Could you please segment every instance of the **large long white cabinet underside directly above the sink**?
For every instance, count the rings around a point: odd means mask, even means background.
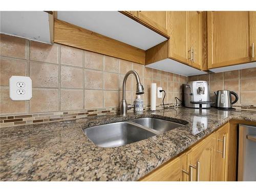
[[[143,50],[167,40],[118,11],[58,11],[57,17]]]

